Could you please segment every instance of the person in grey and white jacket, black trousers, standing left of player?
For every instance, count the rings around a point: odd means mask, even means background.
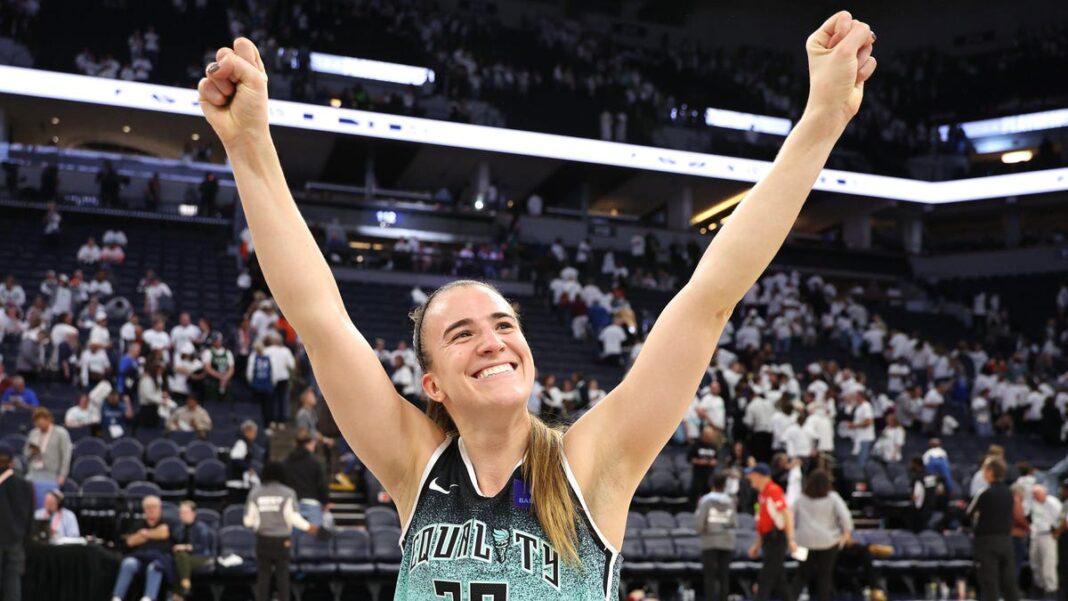
[[[279,599],[289,599],[289,533],[318,533],[297,511],[297,494],[284,479],[284,465],[267,463],[263,485],[252,489],[245,508],[245,527],[256,533],[256,601],[269,601],[272,574]]]

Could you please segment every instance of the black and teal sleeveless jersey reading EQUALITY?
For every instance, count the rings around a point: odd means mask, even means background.
[[[581,569],[567,565],[531,509],[516,465],[496,496],[478,489],[459,438],[446,438],[423,471],[394,601],[616,601],[623,557],[601,535],[565,458],[579,512]]]

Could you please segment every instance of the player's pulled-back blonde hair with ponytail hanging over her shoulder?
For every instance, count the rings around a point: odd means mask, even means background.
[[[500,290],[490,284],[474,280],[457,280],[441,286],[427,297],[422,306],[415,307],[410,314],[414,323],[412,347],[424,373],[429,371],[430,368],[430,358],[423,348],[423,317],[426,310],[440,292],[467,286],[483,286],[504,298]],[[459,434],[459,429],[452,416],[449,415],[449,410],[445,409],[444,405],[430,400],[426,406],[426,414],[445,434]],[[541,524],[541,529],[545,531],[549,542],[552,543],[564,562],[572,567],[581,567],[578,550],[579,535],[576,526],[578,510],[563,470],[564,429],[549,427],[533,414],[530,420],[531,431],[527,444],[527,458],[523,461],[523,479],[531,490],[531,506],[534,517]]]

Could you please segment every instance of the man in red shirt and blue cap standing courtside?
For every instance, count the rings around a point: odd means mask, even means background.
[[[767,463],[757,463],[745,470],[745,477],[759,496],[757,499],[756,534],[759,537],[749,548],[749,556],[756,559],[764,550],[764,563],[756,579],[755,601],[767,601],[772,594],[781,601],[792,601],[786,580],[786,556],[797,551],[794,542],[794,515],[786,506],[783,489],[771,480]]]

